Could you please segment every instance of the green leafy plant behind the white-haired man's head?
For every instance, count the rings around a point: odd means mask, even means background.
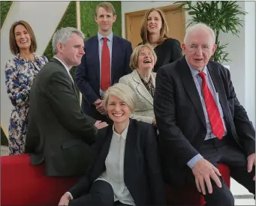
[[[188,11],[191,16],[188,26],[202,22],[215,32],[215,43],[218,46],[211,60],[219,63],[230,61],[227,58],[228,52],[225,51],[227,43],[221,43],[219,34],[221,31],[231,32],[239,37],[239,26],[243,23],[239,15],[245,15],[246,12],[236,4],[236,1],[176,1],[174,4],[180,4],[182,9]]]

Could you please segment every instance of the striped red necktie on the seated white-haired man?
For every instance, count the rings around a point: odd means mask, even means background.
[[[216,106],[212,93],[206,84],[206,74],[204,72],[200,72],[198,75],[203,79],[203,98],[206,103],[206,110],[209,117],[209,123],[212,127],[212,133],[217,136],[218,139],[222,139],[224,126],[221,120],[221,115],[218,112],[218,107]]]

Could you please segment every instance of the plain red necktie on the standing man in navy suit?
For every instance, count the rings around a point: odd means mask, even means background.
[[[101,53],[101,90],[110,87],[110,49],[107,46],[107,37],[103,38]]]

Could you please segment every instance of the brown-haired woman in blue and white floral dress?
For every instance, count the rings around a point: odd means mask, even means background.
[[[16,55],[5,67],[5,84],[14,108],[11,110],[9,153],[23,154],[29,117],[29,92],[36,74],[48,62],[36,55],[35,34],[25,21],[14,22],[10,29],[10,49]]]

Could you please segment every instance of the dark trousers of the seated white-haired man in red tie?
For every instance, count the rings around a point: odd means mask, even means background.
[[[230,176],[239,184],[242,184],[250,193],[255,195],[255,182],[253,181],[255,166],[252,172],[247,172],[247,155],[239,148],[235,139],[225,136],[221,140],[217,138],[206,140],[200,148],[200,154],[216,167],[218,163],[224,163],[229,166]],[[222,187],[217,187],[215,182],[212,181],[212,194],[206,193],[204,196],[206,205],[234,205],[232,193],[222,178],[219,177],[219,179]],[[192,172],[188,175],[188,182],[195,186]],[[208,192],[207,187],[206,191]]]

